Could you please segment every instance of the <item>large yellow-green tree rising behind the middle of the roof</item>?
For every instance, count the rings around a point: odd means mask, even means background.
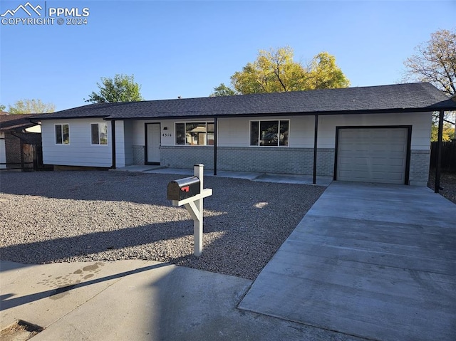
[[[277,93],[284,91],[346,88],[350,82],[336,65],[336,58],[327,52],[318,53],[309,65],[294,61],[294,51],[284,48],[260,50],[253,63],[231,77],[232,88],[224,84],[212,95]],[[220,91],[217,91],[220,90]],[[222,90],[222,91],[221,91]]]

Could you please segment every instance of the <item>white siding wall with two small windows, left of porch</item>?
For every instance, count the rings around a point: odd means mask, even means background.
[[[108,123],[108,145],[91,145],[90,123]],[[123,122],[118,122],[123,127]],[[69,125],[69,145],[57,145],[55,125]],[[117,126],[116,126],[117,127]],[[43,163],[61,166],[111,167],[111,127],[110,122],[100,118],[84,118],[76,120],[43,120],[41,122],[43,140]],[[120,130],[120,129],[119,129]],[[116,131],[116,140],[122,141],[123,133]],[[121,162],[125,156],[118,153]]]

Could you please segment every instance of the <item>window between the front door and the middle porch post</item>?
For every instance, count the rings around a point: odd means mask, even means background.
[[[214,145],[214,122],[176,123],[175,129],[176,145]]]

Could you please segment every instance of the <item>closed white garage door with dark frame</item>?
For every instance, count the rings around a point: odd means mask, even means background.
[[[408,128],[341,128],[337,179],[404,184]]]

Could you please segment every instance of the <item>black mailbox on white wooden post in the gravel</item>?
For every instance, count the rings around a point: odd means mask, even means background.
[[[203,188],[204,164],[195,164],[193,167],[194,177],[176,180],[168,184],[168,199],[172,200],[172,206],[184,205],[193,219],[193,235],[195,236],[195,249],[193,254],[197,257],[202,253],[202,201],[212,195],[212,189]],[[197,178],[197,179],[196,179]],[[199,188],[196,188],[199,185]],[[187,194],[197,193],[186,197]],[[185,198],[185,199],[184,199]]]

